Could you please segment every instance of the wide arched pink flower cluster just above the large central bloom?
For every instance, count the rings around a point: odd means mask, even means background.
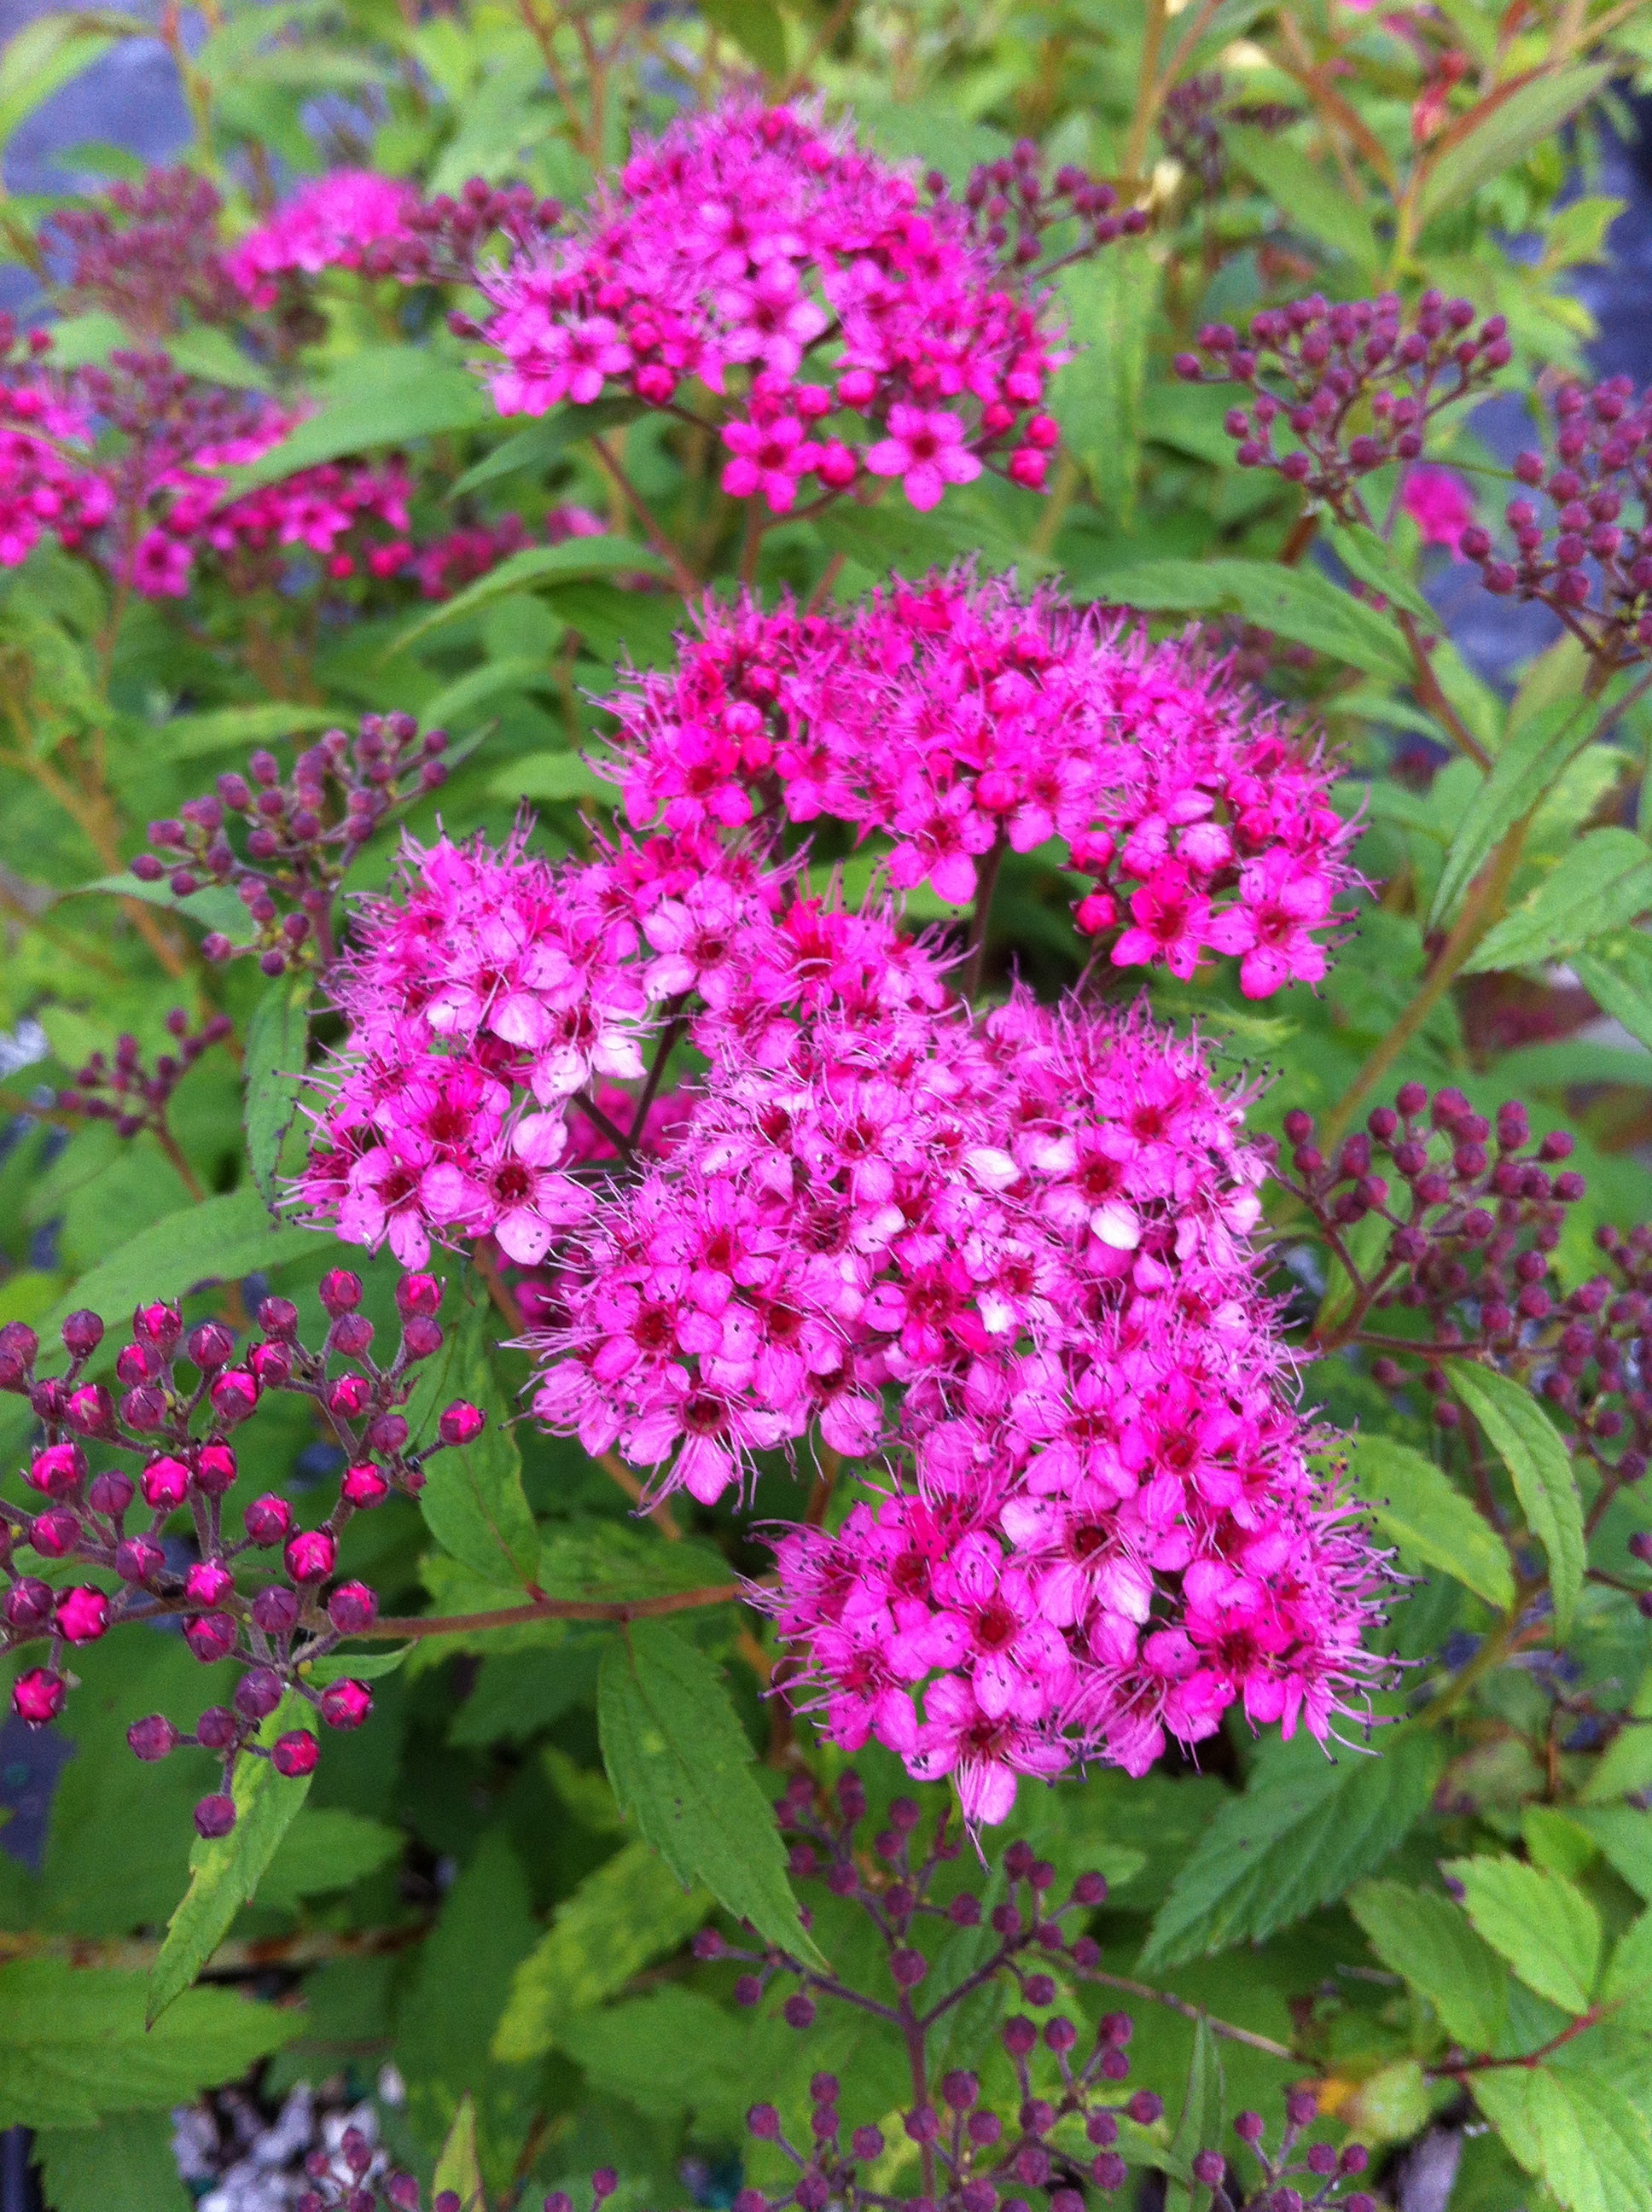
[[[1117,967],[1188,978],[1230,953],[1247,998],[1325,973],[1353,836],[1331,768],[1192,646],[966,573],[701,624],[672,672],[608,701],[635,825],[736,827],[778,801],[889,836],[889,883],[955,905],[989,856],[1059,838]]]

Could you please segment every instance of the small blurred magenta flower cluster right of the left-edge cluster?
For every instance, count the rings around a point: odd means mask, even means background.
[[[332,460],[299,469],[234,495],[226,469],[261,460],[294,429],[299,416],[268,405],[232,438],[199,447],[166,469],[155,484],[155,520],[130,555],[130,582],[144,597],[179,599],[203,555],[226,566],[281,568],[292,549],[325,560],[343,582],[358,564],[372,575],[396,575],[409,560],[407,500],[411,480],[400,462]],[[372,535],[378,531],[389,538]]]

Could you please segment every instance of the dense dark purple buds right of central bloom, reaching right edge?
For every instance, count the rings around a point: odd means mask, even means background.
[[[1292,1172],[1274,1172],[1314,1214],[1356,1287],[1351,1310],[1316,1349],[1362,1345],[1389,1391],[1420,1378],[1446,1431],[1460,1429],[1464,1413],[1440,1363],[1488,1358],[1555,1409],[1568,1447],[1595,1460],[1608,1489],[1641,1480],[1652,1464],[1652,1394],[1643,1387],[1652,1367],[1652,1228],[1628,1237],[1601,1230],[1610,1274],[1559,1285],[1552,1254],[1566,1208],[1583,1197],[1583,1177],[1564,1166],[1572,1155],[1566,1130],[1533,1144],[1517,1099],[1488,1121],[1460,1091],[1431,1099],[1422,1084],[1402,1084],[1393,1106],[1378,1106],[1329,1161],[1309,1115],[1289,1113],[1285,1135]],[[1345,1232],[1369,1214],[1391,1223],[1391,1234],[1358,1265]]]

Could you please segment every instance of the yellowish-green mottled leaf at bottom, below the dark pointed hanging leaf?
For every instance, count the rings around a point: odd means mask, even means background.
[[[710,1893],[686,1891],[650,1845],[615,1851],[557,1907],[551,1929],[517,1966],[493,2057],[504,2064],[544,2057],[564,2020],[677,1951],[703,1927],[710,1905]]]

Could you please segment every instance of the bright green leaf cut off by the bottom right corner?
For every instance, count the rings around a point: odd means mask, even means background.
[[[1473,2090],[1566,2212],[1652,2212],[1652,2128],[1612,2081],[1572,2066],[1506,2066],[1475,2075]]]

